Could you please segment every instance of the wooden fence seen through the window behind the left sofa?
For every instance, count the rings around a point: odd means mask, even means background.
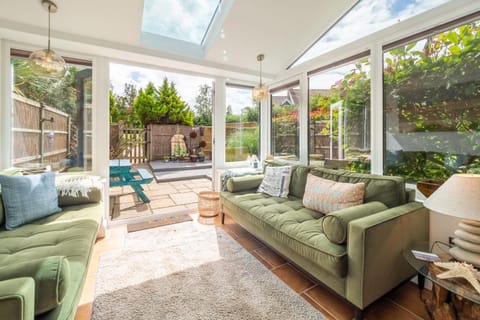
[[[68,114],[14,95],[13,165],[48,163],[54,169],[60,167],[69,150],[70,126]]]

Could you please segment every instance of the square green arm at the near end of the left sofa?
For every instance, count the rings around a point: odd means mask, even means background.
[[[0,315],[2,319],[33,320],[35,313],[35,281],[14,278],[0,281]]]

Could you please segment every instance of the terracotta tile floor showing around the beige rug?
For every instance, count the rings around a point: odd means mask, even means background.
[[[354,309],[351,305],[265,247],[230,218],[226,217],[225,225],[223,226],[219,216],[214,218],[200,217],[198,220],[195,218],[194,221],[222,227],[232,238],[259,259],[265,267],[285,281],[288,286],[298,292],[329,319],[352,319]],[[121,248],[126,232],[126,226],[124,225],[108,229],[106,237],[95,244],[87,281],[75,317],[76,320],[90,319],[99,257],[104,252]],[[429,319],[426,309],[420,300],[420,293],[416,285],[411,282],[402,285],[369,306],[365,310],[364,316],[369,320]]]

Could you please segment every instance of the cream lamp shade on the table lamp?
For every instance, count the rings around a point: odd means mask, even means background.
[[[480,220],[480,175],[452,175],[423,205],[438,213]]]

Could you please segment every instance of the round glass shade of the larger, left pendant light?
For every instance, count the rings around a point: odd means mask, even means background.
[[[62,56],[50,49],[37,50],[30,54],[28,63],[33,73],[47,78],[62,78],[67,71]]]

